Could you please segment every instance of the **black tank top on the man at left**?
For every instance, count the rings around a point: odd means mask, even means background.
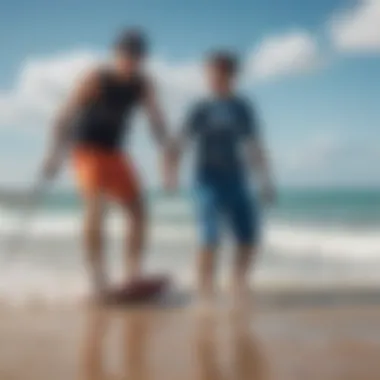
[[[99,73],[99,80],[99,96],[74,120],[74,143],[118,150],[130,129],[131,114],[143,96],[145,81],[137,75],[122,81],[107,70]]]

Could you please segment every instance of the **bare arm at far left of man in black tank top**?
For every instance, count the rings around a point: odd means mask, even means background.
[[[83,105],[97,96],[99,91],[98,77],[98,72],[89,74],[57,113],[42,168],[42,174],[45,178],[51,179],[57,175],[69,142],[70,122]]]

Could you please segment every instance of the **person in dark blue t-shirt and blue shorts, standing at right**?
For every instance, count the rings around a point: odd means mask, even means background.
[[[210,300],[214,292],[215,255],[223,217],[237,243],[231,290],[237,299],[247,294],[248,272],[259,242],[259,210],[248,189],[248,169],[242,160],[242,144],[249,161],[261,179],[262,195],[272,201],[273,186],[268,163],[258,136],[252,106],[235,93],[239,67],[228,52],[211,54],[206,62],[206,77],[211,97],[199,102],[190,113],[177,154],[168,163],[175,185],[174,167],[178,164],[184,139],[196,143],[196,188],[202,247],[198,260],[199,292]],[[174,166],[174,167],[173,167]]]

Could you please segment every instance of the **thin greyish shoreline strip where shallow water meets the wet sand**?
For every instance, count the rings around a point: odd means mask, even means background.
[[[225,288],[220,288],[217,302],[222,304],[228,299]],[[165,309],[172,307],[183,308],[191,304],[195,293],[188,287],[173,287],[162,299],[153,303],[153,307]],[[31,294],[26,295],[24,301],[10,302],[10,297],[0,297],[0,312],[7,308],[82,308],[86,307],[86,297],[83,293],[78,297],[44,298]],[[260,306],[284,307],[310,307],[340,305],[379,305],[380,306],[380,283],[343,283],[337,281],[326,283],[300,283],[300,282],[276,282],[260,283],[252,287],[252,300]]]

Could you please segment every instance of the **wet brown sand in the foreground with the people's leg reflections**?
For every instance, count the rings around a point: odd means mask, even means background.
[[[241,315],[2,307],[0,379],[378,380],[380,304],[313,297]]]

